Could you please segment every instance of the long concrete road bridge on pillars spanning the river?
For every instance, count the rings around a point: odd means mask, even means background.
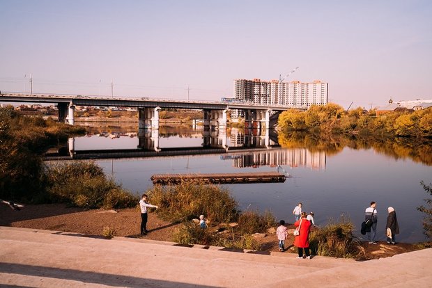
[[[159,129],[160,109],[200,109],[203,110],[204,129],[226,129],[226,113],[230,109],[245,111],[245,127],[270,129],[277,123],[282,111],[289,108],[306,109],[307,107],[286,107],[269,104],[260,105],[251,102],[224,103],[180,99],[150,99],[148,97],[95,97],[89,95],[58,95],[1,93],[1,102],[56,103],[59,109],[59,121],[74,125],[75,106],[124,106],[134,107],[139,113],[139,128]]]

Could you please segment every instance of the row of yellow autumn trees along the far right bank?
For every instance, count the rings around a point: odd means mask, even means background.
[[[342,106],[329,103],[311,106],[307,111],[290,109],[279,115],[281,131],[308,131],[316,134],[358,133],[365,135],[432,137],[432,108],[411,113],[389,112],[377,115],[376,110],[361,107],[344,111]]]

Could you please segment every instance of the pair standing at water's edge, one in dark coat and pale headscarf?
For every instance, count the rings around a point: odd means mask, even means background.
[[[397,222],[396,211],[393,207],[387,208],[387,223],[385,225],[385,234],[387,235],[387,244],[396,244],[396,234],[399,234],[399,223]],[[376,212],[376,202],[372,201],[371,206],[364,210],[364,221],[370,221],[371,225],[366,226],[366,234],[369,244],[376,244],[376,225],[378,223],[378,214]]]

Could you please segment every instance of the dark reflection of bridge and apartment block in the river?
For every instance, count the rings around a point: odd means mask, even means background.
[[[219,154],[222,161],[233,161],[235,168],[258,168],[259,166],[288,166],[325,169],[325,151],[311,152],[306,148],[282,148],[277,143],[273,130],[233,129],[203,130],[201,146],[160,147],[158,129],[139,129],[138,145],[135,149],[75,150],[75,138],[68,145],[45,154],[45,160],[121,159],[151,157],[185,157],[193,155]],[[131,137],[128,134],[128,137]],[[132,136],[133,137],[133,136]]]

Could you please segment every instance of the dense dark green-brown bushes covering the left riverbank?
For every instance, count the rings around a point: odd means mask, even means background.
[[[20,202],[68,202],[86,208],[131,207],[137,197],[125,191],[93,162],[47,164],[49,147],[85,134],[77,127],[0,107],[0,199]]]

